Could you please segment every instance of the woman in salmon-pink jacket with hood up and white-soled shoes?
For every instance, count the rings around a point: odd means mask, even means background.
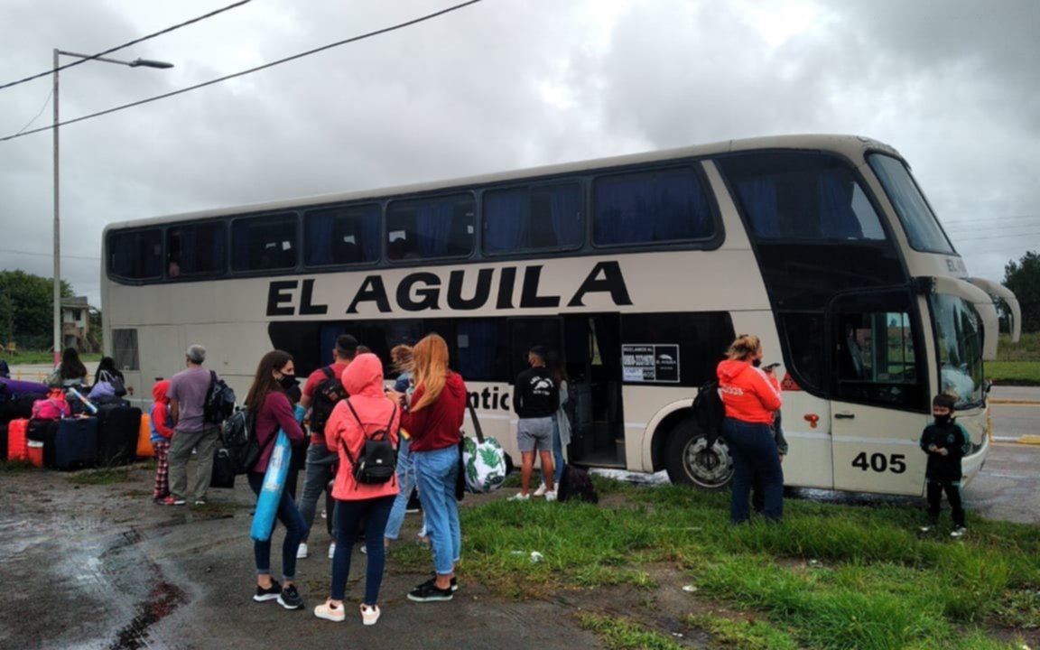
[[[361,603],[361,620],[374,625],[380,618],[376,600],[383,582],[386,561],[383,534],[397,496],[395,477],[386,483],[360,484],[354,478],[352,458],[358,460],[364,451],[365,438],[384,430],[397,447],[400,408],[383,390],[383,362],[370,353],[358,355],[343,370],[340,382],[350,395],[339,401],[326,422],[326,444],[339,453],[339,470],[332,489],[338,501],[336,508],[336,553],[332,561],[332,596],[314,607],[314,616],[329,621],[342,621],[346,577],[350,573],[350,553],[358,527],[365,522],[365,549],[368,568],[365,572],[365,599]],[[349,458],[347,456],[349,450]]]

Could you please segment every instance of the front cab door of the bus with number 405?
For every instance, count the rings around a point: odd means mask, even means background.
[[[836,297],[830,308],[834,488],[918,494],[930,404],[922,333],[909,291]]]

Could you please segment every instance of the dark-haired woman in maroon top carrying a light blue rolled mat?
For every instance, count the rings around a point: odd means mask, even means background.
[[[259,498],[263,488],[264,474],[270,462],[275,448],[275,437],[281,428],[293,443],[306,440],[304,431],[296,423],[292,404],[286,391],[296,385],[295,367],[292,356],[281,349],[267,353],[257,366],[253,385],[245,395],[245,408],[256,414],[253,431],[261,453],[245,477],[253,493]],[[294,584],[296,573],[296,549],[304,536],[304,518],[300,516],[296,504],[287,490],[282,491],[282,500],[278,503],[278,520],[285,526],[285,540],[282,542],[282,583],[270,577],[270,539],[253,543],[253,555],[256,560],[257,590],[253,600],[264,602],[278,600],[278,604],[286,609],[301,609],[304,599]]]

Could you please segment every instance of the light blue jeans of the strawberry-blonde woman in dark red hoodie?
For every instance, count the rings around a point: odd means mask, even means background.
[[[452,445],[433,451],[413,451],[412,461],[434,549],[434,569],[439,575],[449,575],[462,556],[462,528],[454,497],[459,448]]]

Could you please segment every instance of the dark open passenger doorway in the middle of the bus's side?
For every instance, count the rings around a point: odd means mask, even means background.
[[[624,467],[620,315],[565,315],[564,358],[574,400],[569,460]]]

